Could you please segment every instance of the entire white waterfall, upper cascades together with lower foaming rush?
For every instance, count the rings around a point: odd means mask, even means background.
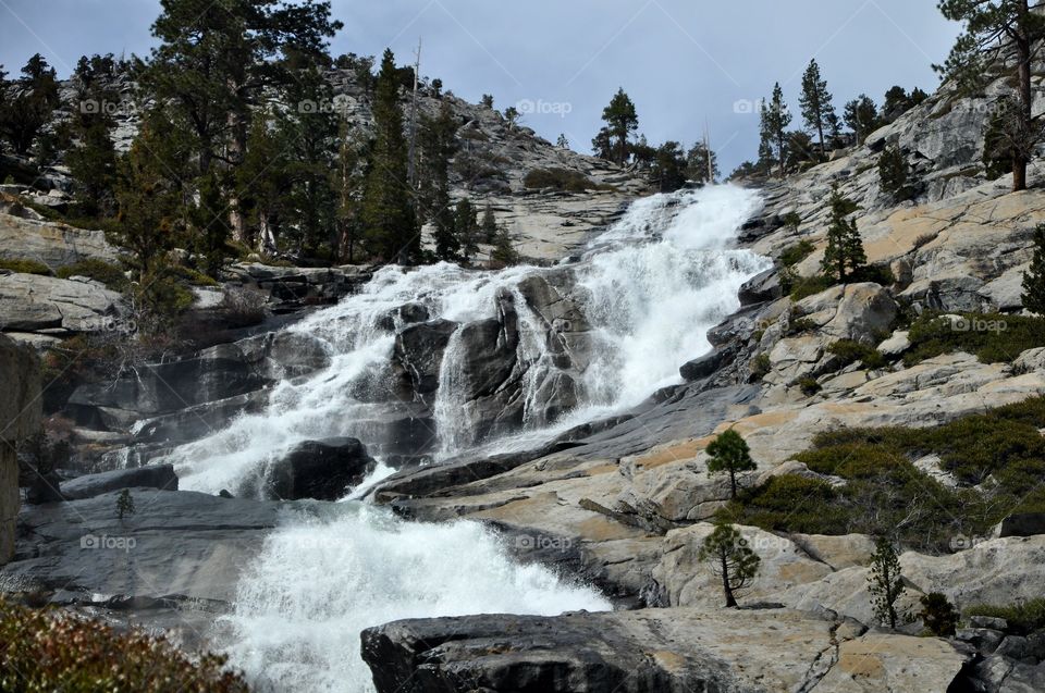
[[[524,422],[544,426],[530,438],[626,409],[679,382],[678,367],[708,349],[708,329],[738,307],[740,284],[769,267],[749,251],[728,249],[759,203],[754,193],[732,186],[654,196],[632,205],[597,239],[571,268],[593,329],[578,405],[553,426],[525,412]],[[380,388],[389,376],[394,336],[382,320],[408,301],[422,304],[433,319],[465,324],[495,317],[499,295],[515,297],[529,406],[554,366],[544,326],[518,285],[546,271],[475,272],[450,264],[381,270],[362,293],[290,327],[323,341],[329,368],[281,383],[265,412],[171,454],[181,487],[239,488],[304,440],[352,435],[373,443],[359,422],[374,405],[359,393]],[[456,387],[468,354],[455,336],[433,406],[444,454],[475,442]],[[353,500],[310,508],[267,540],[242,580],[235,612],[223,622],[221,642],[233,664],[262,689],[367,690],[359,631],[396,618],[610,608],[591,589],[514,564],[478,524],[405,523]]]

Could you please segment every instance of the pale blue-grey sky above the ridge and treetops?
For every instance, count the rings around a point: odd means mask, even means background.
[[[522,123],[590,152],[602,109],[623,87],[651,144],[690,145],[706,126],[723,172],[754,159],[751,104],[779,82],[798,113],[815,58],[839,111],[893,85],[932,91],[933,63],[959,33],[934,0],[333,0],[345,24],[331,45],[391,47],[471,101],[515,106]],[[0,0],[0,64],[40,52],[62,76],[82,54],[147,54],[159,0]],[[794,126],[799,126],[796,115]]]

